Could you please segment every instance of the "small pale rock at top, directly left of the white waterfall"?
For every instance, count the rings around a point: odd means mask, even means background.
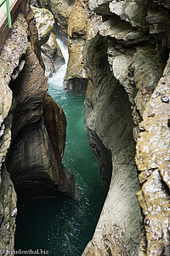
[[[59,67],[65,64],[65,58],[61,52],[59,44],[56,41],[54,33],[51,32],[48,42],[42,44],[42,59],[45,63],[47,77],[52,77]]]

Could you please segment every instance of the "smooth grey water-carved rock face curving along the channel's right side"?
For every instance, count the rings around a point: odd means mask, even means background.
[[[111,150],[113,170],[94,237],[82,255],[137,255],[141,214],[130,102],[110,71],[106,40],[94,37],[85,53],[90,79],[85,123]]]

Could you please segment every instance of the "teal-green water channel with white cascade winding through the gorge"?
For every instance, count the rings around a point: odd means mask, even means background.
[[[63,46],[62,51],[67,59]],[[64,90],[65,68],[66,64],[48,79],[48,93],[65,111],[67,136],[63,163],[74,174],[80,200],[44,199],[21,207],[15,250],[42,249],[49,251],[50,256],[80,256],[94,234],[105,201],[98,160],[89,147],[83,122],[84,95]]]

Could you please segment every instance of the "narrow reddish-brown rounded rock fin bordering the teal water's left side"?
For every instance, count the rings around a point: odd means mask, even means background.
[[[63,109],[54,102],[48,94],[45,96],[43,107],[44,123],[54,150],[59,172],[58,191],[64,195],[75,195],[75,183],[73,175],[62,165],[61,160],[65,151],[66,118]]]

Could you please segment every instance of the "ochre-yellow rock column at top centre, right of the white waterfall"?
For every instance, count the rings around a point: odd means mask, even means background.
[[[58,27],[57,31],[54,29],[55,36],[68,43],[69,61],[65,73],[65,89],[86,91],[88,77],[82,59],[83,48],[98,32],[100,17],[90,12],[87,2],[82,0],[39,2],[42,8],[49,9],[54,15]]]

